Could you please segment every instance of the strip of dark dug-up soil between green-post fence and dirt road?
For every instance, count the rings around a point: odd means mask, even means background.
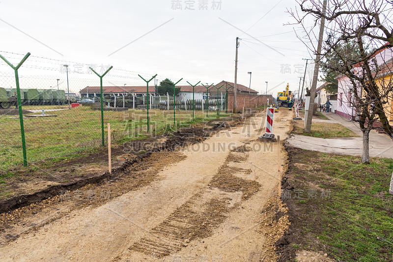
[[[189,144],[200,143],[218,130],[230,129],[242,123],[244,120],[237,117],[211,120],[158,138],[135,140],[114,146],[112,174],[108,172],[108,149],[105,147],[99,147],[83,157],[65,158],[54,163],[45,159],[27,168],[10,169],[4,172],[12,173],[13,176],[5,178],[6,186],[3,186],[2,190],[7,191],[7,194],[0,196],[0,213],[44,200],[64,190],[75,190],[87,183],[99,183],[123,172],[153,152],[170,152]]]

